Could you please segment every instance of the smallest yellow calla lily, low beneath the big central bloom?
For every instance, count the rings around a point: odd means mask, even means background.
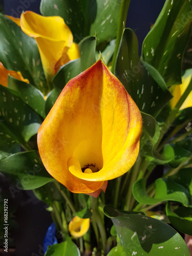
[[[69,231],[74,238],[80,238],[87,233],[90,227],[90,219],[81,219],[75,216],[69,223]]]

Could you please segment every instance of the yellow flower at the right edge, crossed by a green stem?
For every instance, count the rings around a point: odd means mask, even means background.
[[[170,88],[170,92],[173,95],[173,98],[170,100],[170,106],[172,109],[175,107],[175,105],[177,104],[177,102],[185,92],[186,88],[188,87],[191,77],[192,77],[192,74],[189,74],[189,75],[184,74],[182,76],[182,83],[177,86],[172,86]],[[189,93],[189,95],[181,105],[180,110],[189,108],[190,106],[192,106],[192,91]]]

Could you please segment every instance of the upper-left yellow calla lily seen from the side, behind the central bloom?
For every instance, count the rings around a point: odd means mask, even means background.
[[[73,42],[73,34],[63,18],[26,11],[20,15],[20,27],[28,36],[35,38],[48,79],[60,66],[79,58],[78,45]]]

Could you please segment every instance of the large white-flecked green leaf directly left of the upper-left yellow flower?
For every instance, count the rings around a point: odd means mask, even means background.
[[[5,68],[20,71],[24,78],[46,94],[49,88],[34,38],[1,13],[0,38],[0,61]]]

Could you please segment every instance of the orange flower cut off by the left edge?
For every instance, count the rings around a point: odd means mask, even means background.
[[[8,84],[8,76],[12,76],[14,78],[16,78],[17,80],[29,83],[28,79],[25,79],[22,76],[22,73],[20,73],[20,71],[13,71],[13,70],[7,70],[4,66],[3,63],[0,62],[0,84],[2,84],[2,86],[7,87]]]

